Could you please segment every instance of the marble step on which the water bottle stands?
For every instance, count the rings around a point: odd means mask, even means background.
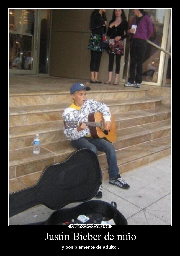
[[[171,119],[117,130],[117,140],[113,144],[115,150],[119,150],[168,135],[171,135]],[[33,163],[34,165],[37,161],[51,158],[55,161],[62,161],[74,152],[74,148],[68,140],[44,144],[40,148],[39,155],[33,154],[33,146],[11,150],[9,152],[9,167],[16,167],[16,170],[19,167],[25,172],[26,168],[30,168],[29,164]]]

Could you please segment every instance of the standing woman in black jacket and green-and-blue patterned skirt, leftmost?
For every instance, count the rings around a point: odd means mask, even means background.
[[[92,30],[88,49],[91,51],[91,83],[102,83],[97,79],[102,53],[102,34],[106,33],[106,9],[95,9],[91,13],[90,29]]]

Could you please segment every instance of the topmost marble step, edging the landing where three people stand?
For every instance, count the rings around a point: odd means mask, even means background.
[[[122,98],[142,98],[147,95],[147,88],[128,88],[124,85],[116,86],[97,86],[90,85],[89,83],[86,86],[91,86],[91,91],[87,92],[89,99],[94,99],[97,101],[104,100],[114,100]],[[41,86],[42,88],[42,86]],[[70,88],[70,86],[69,86]],[[107,90],[108,89],[108,90]],[[44,105],[60,102],[71,102],[71,95],[67,90],[62,90],[62,88],[49,86],[44,88],[43,91],[32,91],[27,93],[27,88],[21,87],[18,92],[18,88],[11,88],[10,97],[9,97],[9,106],[26,106],[26,105]]]

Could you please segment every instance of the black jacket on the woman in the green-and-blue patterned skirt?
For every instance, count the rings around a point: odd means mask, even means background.
[[[102,35],[102,33],[106,33],[105,20],[101,17],[99,12],[92,13],[90,18],[90,29],[93,34]]]

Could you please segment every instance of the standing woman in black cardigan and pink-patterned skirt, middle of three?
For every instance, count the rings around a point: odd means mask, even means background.
[[[107,36],[109,40],[109,78],[105,84],[111,84],[112,71],[114,64],[114,57],[116,56],[116,71],[114,85],[118,84],[121,56],[124,55],[123,39],[127,38],[126,33],[128,29],[128,22],[123,9],[114,9],[112,20],[109,23]]]

